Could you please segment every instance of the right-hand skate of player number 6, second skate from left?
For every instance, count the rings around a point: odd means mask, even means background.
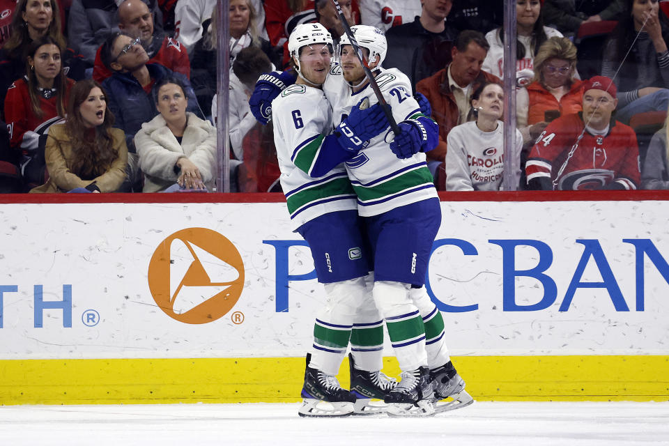
[[[380,371],[364,371],[355,368],[353,355],[348,353],[348,369],[351,371],[351,394],[355,397],[355,415],[383,413],[387,404],[383,399],[397,385],[397,380],[388,378]],[[380,399],[381,401],[371,401]]]

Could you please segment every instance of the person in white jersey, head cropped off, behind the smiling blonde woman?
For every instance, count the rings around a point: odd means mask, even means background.
[[[204,25],[211,20],[211,12],[216,3],[216,0],[182,0],[176,3],[174,10],[176,38],[185,45],[189,56],[192,56],[195,44],[206,32]],[[232,9],[233,2],[230,3],[230,8]],[[253,20],[258,36],[266,38],[265,10],[263,10],[261,0],[250,0],[250,3],[256,12],[256,17]],[[230,26],[233,26],[232,22]]]

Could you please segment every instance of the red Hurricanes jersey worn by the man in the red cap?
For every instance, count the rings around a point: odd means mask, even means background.
[[[528,182],[546,178],[555,184],[555,190],[601,189],[613,182],[625,189],[636,189],[640,172],[634,131],[611,120],[605,136],[592,135],[586,130],[569,157],[583,128],[580,113],[562,116],[548,124],[525,164]],[[567,165],[558,178],[565,162]]]

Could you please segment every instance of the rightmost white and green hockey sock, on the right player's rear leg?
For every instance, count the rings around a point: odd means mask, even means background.
[[[424,286],[409,291],[411,300],[418,307],[425,325],[425,351],[431,369],[450,361],[446,346],[444,318],[430,299]]]

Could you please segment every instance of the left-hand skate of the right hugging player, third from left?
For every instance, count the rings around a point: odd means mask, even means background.
[[[430,369],[420,367],[403,371],[401,381],[383,401],[388,404],[388,415],[394,417],[426,417],[434,415]]]

